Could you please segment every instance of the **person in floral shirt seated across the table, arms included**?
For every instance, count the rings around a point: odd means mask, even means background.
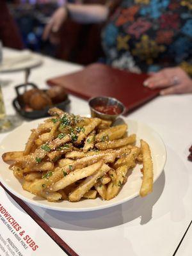
[[[109,17],[111,4],[117,3]],[[44,39],[70,17],[76,22],[106,22],[102,46],[106,63],[131,72],[147,72],[144,85],[161,95],[192,93],[192,5],[187,0],[123,0],[66,4],[56,10]]]

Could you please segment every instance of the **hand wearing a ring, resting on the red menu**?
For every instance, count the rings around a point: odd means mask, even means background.
[[[163,70],[150,73],[150,77],[143,83],[148,88],[162,88],[160,94],[192,93],[192,79],[180,67],[163,68]]]

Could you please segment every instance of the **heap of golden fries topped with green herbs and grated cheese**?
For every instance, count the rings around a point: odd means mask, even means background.
[[[81,198],[111,200],[123,188],[130,169],[143,163],[140,195],[152,191],[150,148],[136,134],[127,135],[127,125],[87,118],[51,108],[52,115],[31,130],[23,151],[6,152],[3,161],[22,188],[49,202]]]

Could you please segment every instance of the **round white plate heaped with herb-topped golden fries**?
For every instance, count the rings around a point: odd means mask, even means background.
[[[0,180],[10,192],[57,211],[94,211],[152,192],[166,162],[156,131],[123,117],[111,125],[58,108],[49,113],[1,143]]]

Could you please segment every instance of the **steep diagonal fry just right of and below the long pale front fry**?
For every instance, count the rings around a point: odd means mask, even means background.
[[[87,177],[81,184],[68,196],[68,199],[71,202],[79,201],[83,195],[88,192],[97,182],[99,177],[102,177],[105,173],[110,170],[110,167],[106,164],[103,164],[99,171],[97,171],[94,175]]]

